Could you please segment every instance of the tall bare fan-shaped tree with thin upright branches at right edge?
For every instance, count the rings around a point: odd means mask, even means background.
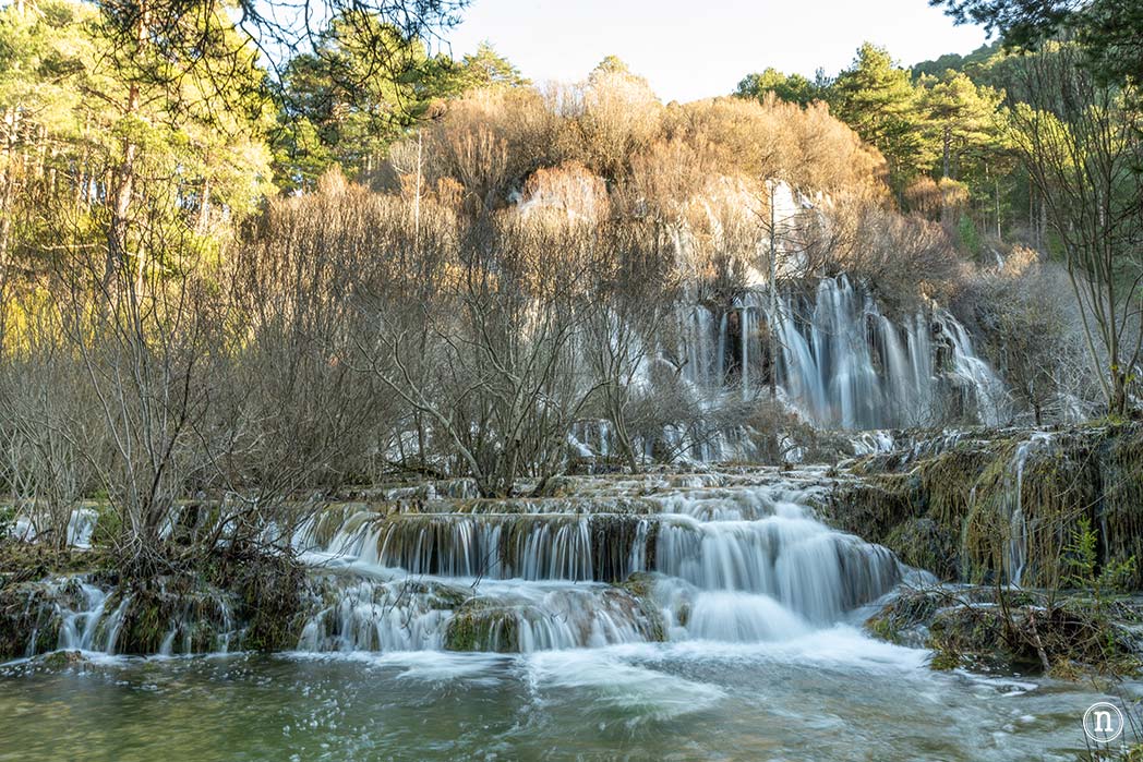
[[[1061,43],[1023,59],[1009,133],[1063,250],[1108,410],[1122,414],[1143,359],[1143,121],[1082,56]]]

